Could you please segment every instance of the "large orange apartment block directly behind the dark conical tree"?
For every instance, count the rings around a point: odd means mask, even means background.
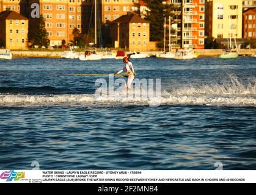
[[[49,34],[50,45],[60,45],[73,41],[73,30],[82,32],[82,0],[31,0],[31,4],[40,5],[40,15],[45,18],[45,28]],[[29,14],[29,39],[33,40],[38,18]]]

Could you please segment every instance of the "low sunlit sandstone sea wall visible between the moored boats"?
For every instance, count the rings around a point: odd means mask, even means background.
[[[222,53],[224,50],[222,49],[194,49],[194,51],[199,53],[199,57],[216,57]],[[175,52],[175,51],[174,51]],[[256,49],[240,49],[240,55],[252,55],[256,53]],[[38,57],[38,58],[61,58],[62,51],[12,51],[13,57]],[[78,52],[79,54],[83,54],[83,52]],[[101,53],[101,52],[98,52]],[[130,52],[126,52],[128,54]],[[148,51],[143,52],[149,55],[159,54],[161,51]]]

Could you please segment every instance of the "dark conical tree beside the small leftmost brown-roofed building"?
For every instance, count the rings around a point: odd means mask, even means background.
[[[35,31],[34,45],[38,45],[39,47],[49,46],[48,32],[45,29],[45,19],[42,15],[40,15],[37,30]]]

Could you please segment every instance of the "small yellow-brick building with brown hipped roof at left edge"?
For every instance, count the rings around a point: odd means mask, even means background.
[[[0,13],[0,41],[7,49],[27,49],[28,19],[14,11]]]

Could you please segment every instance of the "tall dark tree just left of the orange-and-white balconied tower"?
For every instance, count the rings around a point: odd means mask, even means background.
[[[150,22],[150,41],[163,41],[164,37],[164,18],[166,17],[166,24],[169,25],[169,16],[171,18],[171,25],[174,24],[175,9],[173,4],[163,4],[163,0],[144,0],[150,11],[147,12],[145,19]],[[169,34],[169,30],[166,30]],[[174,30],[172,30],[174,33]]]

